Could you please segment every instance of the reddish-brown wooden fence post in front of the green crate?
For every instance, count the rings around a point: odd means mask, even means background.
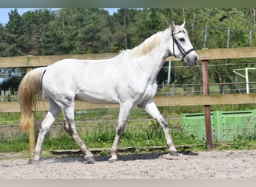
[[[208,61],[202,61],[202,76],[204,95],[209,95],[209,72],[208,72]],[[210,105],[204,105],[204,117],[205,117],[205,131],[207,138],[207,150],[213,150],[213,137],[212,137],[212,125],[210,119]]]

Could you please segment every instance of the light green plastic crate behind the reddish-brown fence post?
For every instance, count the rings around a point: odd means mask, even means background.
[[[206,140],[204,113],[182,114],[182,126],[186,135]],[[238,135],[256,135],[256,110],[213,111],[212,135],[215,141],[233,141]]]

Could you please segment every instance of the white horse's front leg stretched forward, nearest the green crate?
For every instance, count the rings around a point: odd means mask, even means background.
[[[151,117],[156,119],[160,126],[162,126],[162,129],[165,133],[166,144],[168,146],[168,153],[170,153],[173,156],[177,156],[177,150],[171,138],[170,126],[168,125],[165,118],[162,117],[162,114],[156,107],[155,102],[153,102],[153,100],[149,100],[147,102],[141,103],[141,105],[138,105],[138,107],[143,108],[145,111],[147,111],[147,113],[150,114]]]

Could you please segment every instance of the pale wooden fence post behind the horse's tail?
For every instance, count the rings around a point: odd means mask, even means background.
[[[32,68],[28,67],[27,68],[27,73],[30,70],[32,70]],[[35,123],[35,111],[33,111],[32,118],[31,118],[31,121],[30,121],[30,126],[29,126],[29,129],[28,129],[30,156],[33,156],[33,151],[34,151],[34,147],[35,147],[35,125],[34,125],[34,123]]]

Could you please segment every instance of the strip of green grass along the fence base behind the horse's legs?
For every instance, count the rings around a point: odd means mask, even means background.
[[[150,120],[147,124],[135,126],[134,122],[129,122],[124,135],[121,138],[119,147],[152,147],[165,146],[165,136],[162,128],[155,120]],[[89,124],[91,129],[85,132],[80,132],[80,136],[89,148],[110,148],[115,138],[115,126],[109,126],[104,123],[97,125]],[[181,145],[190,145],[191,151],[205,150],[205,142],[197,138],[186,136],[182,129],[174,127],[171,131],[172,138],[177,147]],[[217,150],[239,150],[256,148],[256,138],[246,138],[239,136],[234,142],[218,143],[215,142]],[[19,152],[28,151],[28,135],[20,134],[13,138],[1,139],[0,152]],[[43,144],[43,150],[73,150],[79,149],[78,145],[73,141],[70,135],[66,132],[61,132],[60,135],[46,135],[46,140]],[[183,147],[178,148],[178,151],[186,151]],[[137,150],[139,152],[139,150]],[[103,153],[101,153],[103,154]]]

